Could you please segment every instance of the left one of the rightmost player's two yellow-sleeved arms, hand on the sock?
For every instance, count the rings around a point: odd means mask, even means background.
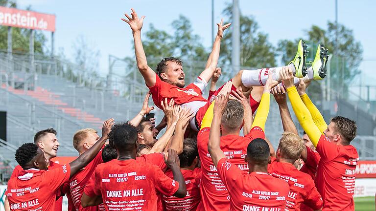
[[[282,67],[281,76],[283,84],[286,86],[288,98],[290,99],[290,103],[292,109],[294,110],[295,116],[298,118],[300,125],[307,133],[313,146],[316,147],[317,143],[319,142],[321,132],[313,122],[309,110],[307,109],[307,107],[305,107],[302,99],[300,99],[298,91],[296,90],[296,87],[294,85],[294,75],[292,74],[291,67]]]

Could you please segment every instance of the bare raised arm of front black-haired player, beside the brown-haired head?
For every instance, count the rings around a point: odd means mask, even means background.
[[[221,121],[223,112],[226,109],[227,102],[230,97],[230,91],[226,93],[226,96],[223,94],[218,95],[215,97],[215,105],[214,105],[214,117],[211,122],[211,129],[209,135],[209,142],[208,142],[208,151],[211,156],[211,160],[215,167],[218,165],[218,161],[222,158],[225,158],[225,153],[223,153],[220,147],[220,138],[221,138]]]

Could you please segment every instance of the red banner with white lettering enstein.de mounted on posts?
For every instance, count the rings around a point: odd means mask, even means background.
[[[55,31],[55,16],[0,6],[0,25]]]

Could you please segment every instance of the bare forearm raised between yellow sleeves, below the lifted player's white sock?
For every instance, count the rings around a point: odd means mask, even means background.
[[[271,93],[273,94],[274,99],[276,99],[278,107],[280,108],[283,131],[288,131],[299,135],[298,130],[292,121],[290,111],[288,110],[286,90],[283,86],[277,85],[276,87],[272,88]]]

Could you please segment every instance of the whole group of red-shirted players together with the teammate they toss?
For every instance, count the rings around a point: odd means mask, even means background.
[[[59,148],[57,131],[37,132],[34,143],[16,151],[19,166],[8,182],[6,210],[61,211],[64,194],[69,211],[354,210],[355,122],[337,116],[327,125],[305,93],[312,80],[326,75],[324,45],[309,68],[300,41],[287,66],[240,70],[217,89],[220,42],[230,26],[221,21],[205,70],[186,86],[180,59],[165,58],[156,71],[147,65],[141,42],[145,17],[133,9],[125,16],[150,90],[140,113],[128,122],[105,121],[101,137],[94,129],[77,131],[73,147],[79,156],[66,165],[51,162]],[[277,150],[265,137],[270,94],[284,130]],[[157,126],[144,117],[154,109],[150,96],[164,112]]]

